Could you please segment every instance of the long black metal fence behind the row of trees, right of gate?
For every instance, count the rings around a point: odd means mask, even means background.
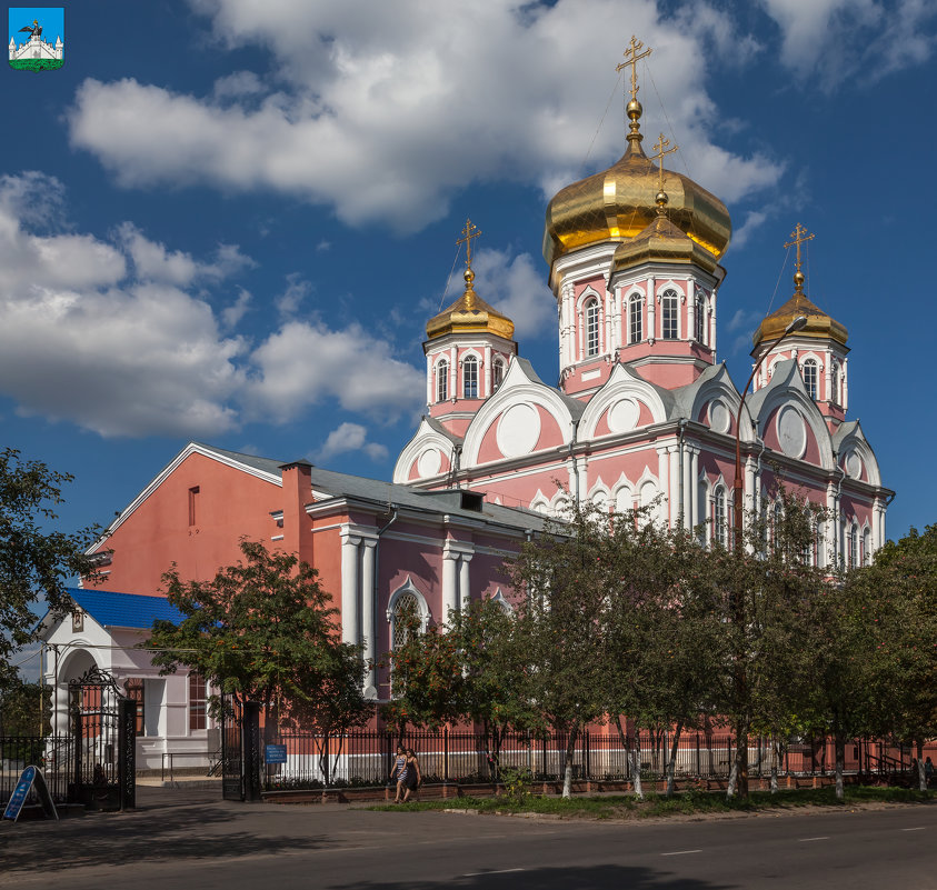
[[[470,732],[441,730],[411,731],[402,739],[389,732],[359,731],[343,736],[268,733],[267,744],[286,748],[286,762],[262,768],[267,790],[319,786],[378,786],[390,779],[398,740],[412,748],[420,772],[428,782],[491,782],[505,770],[519,770],[547,781],[562,778],[566,738],[509,733],[494,751],[491,740]],[[634,778],[629,751],[636,751],[641,778],[662,779],[672,747],[667,732],[627,737],[622,744],[616,734],[581,733],[574,746],[574,778],[590,781],[629,781]],[[707,732],[685,732],[677,746],[675,773],[680,780],[725,779],[735,754],[734,737]],[[937,759],[937,741],[925,756]],[[908,773],[914,751],[907,746],[881,740],[856,740],[846,746],[845,769],[883,778]],[[821,776],[835,769],[831,739],[786,742],[778,748],[766,737],[750,737],[749,776]]]

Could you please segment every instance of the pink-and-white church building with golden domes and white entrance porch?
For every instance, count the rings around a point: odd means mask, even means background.
[[[657,163],[648,156],[636,96],[632,87],[621,159],[561,189],[547,208],[558,387],[518,356],[512,321],[476,292],[476,232],[467,223],[465,291],[427,323],[428,411],[391,482],[190,443],[94,548],[103,578],[94,591],[146,611],[172,562],[183,578],[207,579],[237,562],[242,537],[260,540],[318,569],[343,639],[376,662],[393,647],[405,606],[416,603],[425,622],[443,622],[481,597],[509,609],[505,554],[561,514],[566,498],[619,511],[647,507],[658,522],[728,546],[737,436],[746,516],[770,517],[783,484],[828,510],[816,529],[817,564],[869,561],[886,540],[894,492],[858,421],[848,419],[847,330],[805,290],[806,230],[798,223],[793,237],[791,297],[755,336],[758,372],[741,404],[716,351],[729,213],[664,167],[662,136]],[[59,688],[89,659],[106,667],[88,627],[118,639],[96,618],[100,603],[76,599],[92,620],[54,631],[60,657],[46,680]],[[120,632],[136,628],[137,639],[150,626],[122,620]],[[152,690],[140,719],[148,756],[191,750],[193,738],[206,738],[206,728],[160,711],[190,712],[189,698],[205,694],[197,684],[159,686],[139,663],[110,667]],[[389,696],[382,670],[365,692]]]

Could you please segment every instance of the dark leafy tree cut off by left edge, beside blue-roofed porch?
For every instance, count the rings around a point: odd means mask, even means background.
[[[0,451],[0,686],[14,680],[10,659],[36,638],[33,604],[44,599],[53,613],[64,614],[73,608],[68,580],[93,571],[84,551],[99,537],[96,529],[48,529],[71,481],[16,449]]]

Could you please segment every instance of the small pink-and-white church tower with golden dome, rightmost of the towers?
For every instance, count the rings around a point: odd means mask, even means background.
[[[849,352],[846,346],[848,332],[843,324],[815,306],[804,293],[806,279],[800,269],[800,248],[814,236],[807,234],[807,230],[798,222],[790,237],[793,240],[785,247],[796,246],[797,248],[794,296],[780,309],[765,318],[755,333],[755,347],[751,350],[755,361],[757,362],[765,350],[768,350],[755,380],[755,389],[768,384],[774,368],[779,361],[794,359],[800,370],[807,393],[817,403],[829,431],[835,432],[846,420],[849,401],[846,373],[846,356]],[[786,337],[777,349],[774,348],[771,344],[777,342],[785,328],[799,316],[807,319],[804,328]]]

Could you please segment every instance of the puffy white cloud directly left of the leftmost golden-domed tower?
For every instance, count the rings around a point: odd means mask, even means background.
[[[396,359],[387,341],[376,341],[357,322],[331,330],[290,321],[250,358],[257,376],[248,403],[257,418],[285,421],[331,398],[348,411],[396,420],[426,398],[423,372]]]

